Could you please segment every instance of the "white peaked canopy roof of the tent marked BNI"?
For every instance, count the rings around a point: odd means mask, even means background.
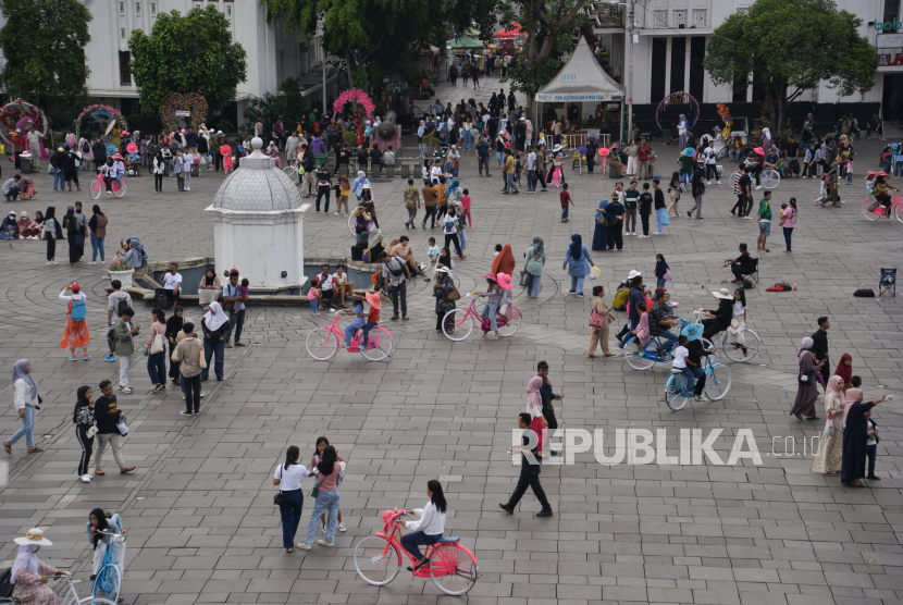
[[[610,101],[623,99],[623,86],[611,79],[581,39],[555,78],[540,88],[535,100],[545,103]]]

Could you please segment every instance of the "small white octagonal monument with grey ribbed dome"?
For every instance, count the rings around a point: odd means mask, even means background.
[[[304,203],[298,187],[275,168],[276,161],[251,139],[253,152],[242,158],[213,203],[206,208],[213,219],[217,273],[232,268],[247,277],[250,287],[267,294],[300,294],[304,274]]]

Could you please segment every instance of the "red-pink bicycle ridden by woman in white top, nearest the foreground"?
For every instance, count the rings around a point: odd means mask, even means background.
[[[398,518],[408,511],[395,508],[383,513],[383,531],[362,538],[355,545],[355,569],[363,581],[374,587],[384,587],[401,569],[401,554],[417,561],[401,546],[401,523]],[[458,596],[473,588],[477,575],[477,557],[459,544],[460,538],[442,538],[426,546],[425,558],[429,567],[413,572],[416,578],[432,578],[433,583],[445,594]]]

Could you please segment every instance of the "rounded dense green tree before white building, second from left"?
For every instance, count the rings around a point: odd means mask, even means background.
[[[150,36],[135,29],[128,46],[141,110],[148,113],[158,113],[172,92],[198,92],[208,106],[222,106],[247,78],[247,53],[232,42],[228,22],[214,4],[185,15],[159,13]]]

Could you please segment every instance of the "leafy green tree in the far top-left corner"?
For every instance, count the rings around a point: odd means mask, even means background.
[[[47,109],[47,101],[72,103],[86,97],[91,13],[78,0],[0,0],[7,24],[0,49],[7,65],[0,74],[7,98]]]

